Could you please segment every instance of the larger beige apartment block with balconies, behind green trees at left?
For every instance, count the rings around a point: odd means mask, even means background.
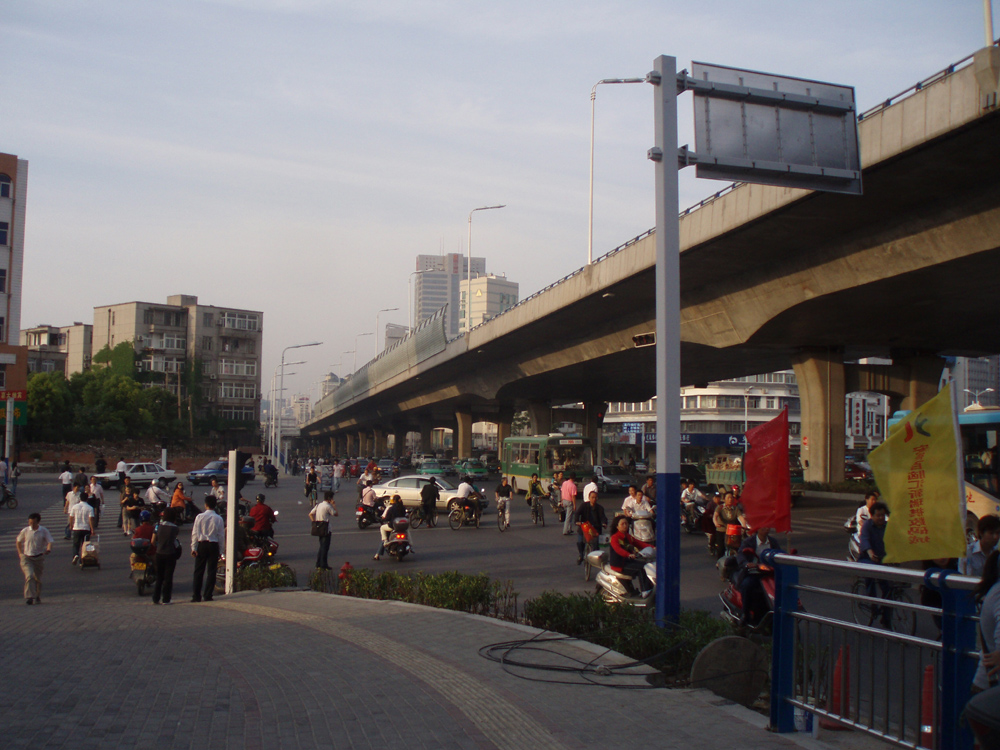
[[[177,393],[184,366],[197,361],[208,412],[257,422],[263,321],[262,312],[199,305],[186,294],[167,297],[166,304],[104,305],[94,308],[93,348],[131,341],[139,369],[164,373],[162,385],[171,393]]]

